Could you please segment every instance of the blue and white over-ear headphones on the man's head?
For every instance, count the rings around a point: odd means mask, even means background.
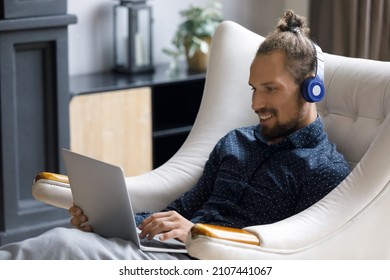
[[[324,54],[321,48],[314,44],[316,51],[316,75],[309,77],[303,81],[301,85],[301,93],[303,98],[310,103],[319,102],[325,96],[324,87]]]

